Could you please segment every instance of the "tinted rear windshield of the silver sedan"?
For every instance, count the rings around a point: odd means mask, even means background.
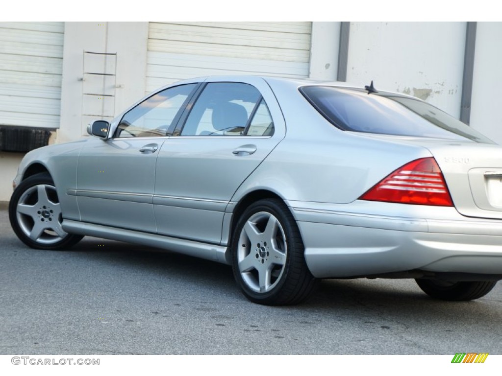
[[[460,120],[418,99],[330,86],[300,92],[336,127],[355,132],[493,143]]]

